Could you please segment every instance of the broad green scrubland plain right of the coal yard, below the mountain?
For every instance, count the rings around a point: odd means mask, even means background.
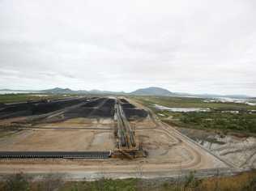
[[[222,132],[236,131],[256,134],[256,106],[234,103],[206,103],[200,98],[134,96],[133,99],[151,108],[164,122],[191,129],[219,129]],[[169,112],[159,111],[154,104],[177,108],[211,108],[211,112]],[[214,110],[218,109],[218,111]],[[224,110],[241,110],[239,113]]]

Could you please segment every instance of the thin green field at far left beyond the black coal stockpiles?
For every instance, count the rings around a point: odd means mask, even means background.
[[[70,96],[70,95],[68,95]],[[28,100],[44,100],[44,99],[58,99],[64,98],[64,95],[54,95],[54,94],[3,94],[0,95],[0,103],[15,103],[23,102]]]

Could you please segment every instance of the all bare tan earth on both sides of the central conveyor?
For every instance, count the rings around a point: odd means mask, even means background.
[[[133,103],[134,104],[134,103]],[[137,106],[142,107],[137,104]],[[130,177],[136,174],[159,176],[182,170],[229,169],[215,155],[196,142],[156,119],[131,122],[135,135],[148,152],[142,159],[2,159],[0,173],[63,172],[89,179],[100,177]],[[45,129],[36,129],[44,127]],[[62,129],[63,127],[69,129]],[[75,127],[75,129],[74,129]],[[112,119],[75,118],[51,124],[36,125],[35,129],[0,138],[0,151],[109,151],[115,149]],[[83,128],[83,129],[77,129]],[[89,128],[89,129],[86,129]],[[93,129],[91,129],[93,128]]]

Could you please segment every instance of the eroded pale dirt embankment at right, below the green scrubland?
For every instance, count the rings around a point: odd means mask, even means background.
[[[256,138],[238,134],[216,134],[200,129],[177,128],[215,155],[237,168],[256,168]]]

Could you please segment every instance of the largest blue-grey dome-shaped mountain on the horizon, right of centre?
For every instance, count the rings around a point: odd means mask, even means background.
[[[147,87],[130,92],[136,96],[174,96],[175,94],[169,90],[160,87]]]

